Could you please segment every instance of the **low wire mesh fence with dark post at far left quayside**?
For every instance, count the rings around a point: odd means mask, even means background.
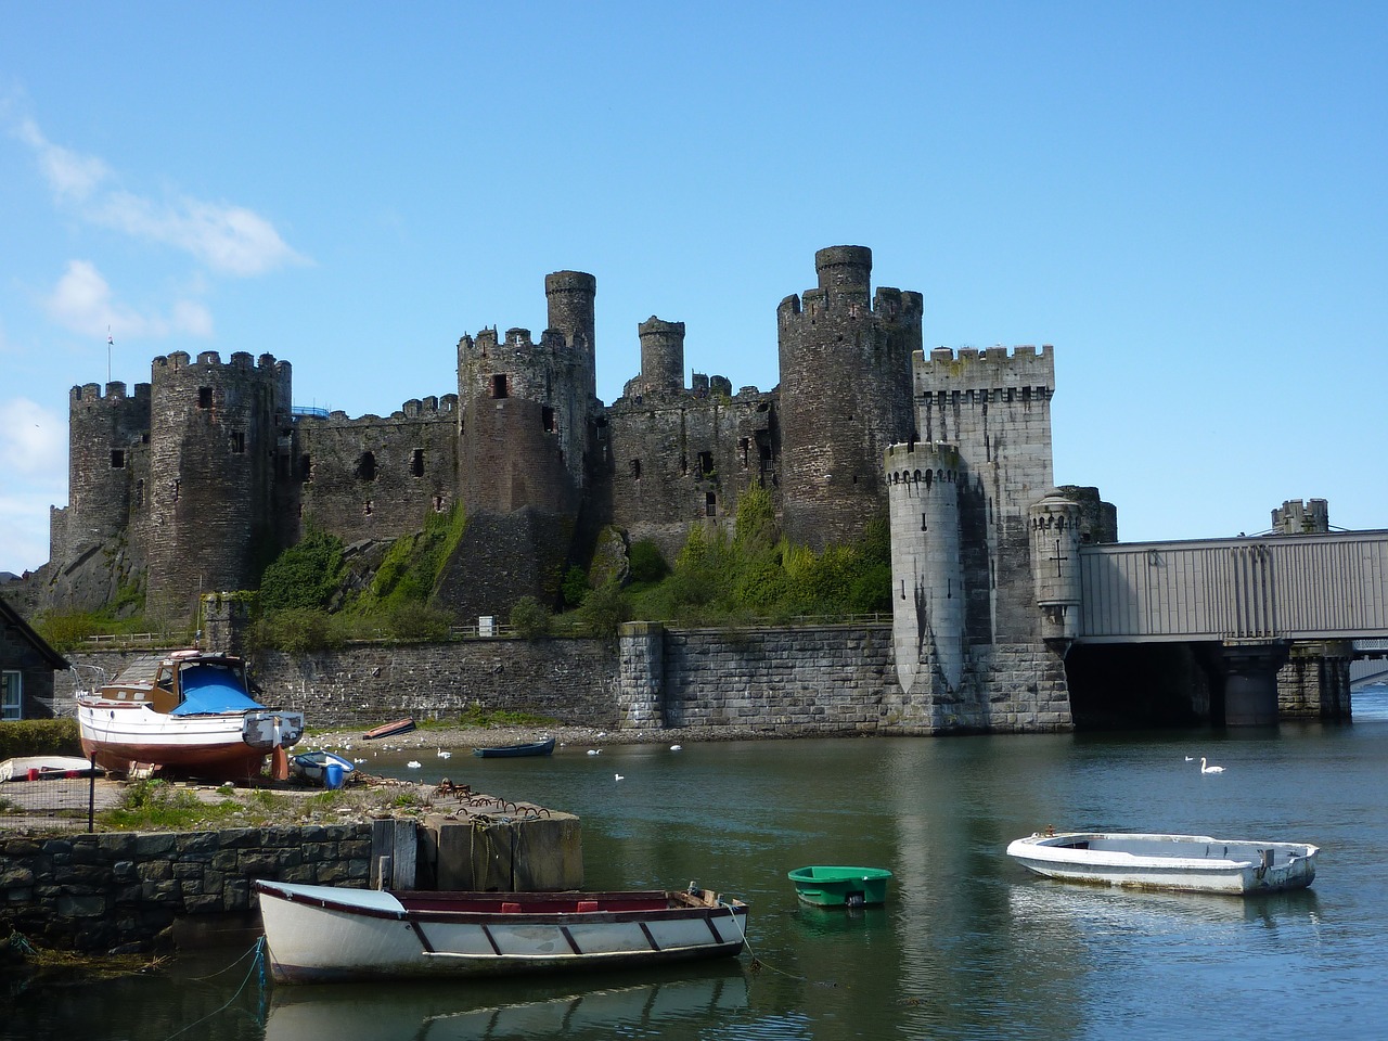
[[[6,831],[93,831],[97,811],[114,804],[96,763],[51,756],[0,763],[0,829]]]

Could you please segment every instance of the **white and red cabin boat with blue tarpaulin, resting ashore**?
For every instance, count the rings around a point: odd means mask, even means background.
[[[215,780],[255,777],[276,748],[294,745],[304,713],[250,695],[246,662],[211,651],[132,661],[111,683],[78,691],[82,751],[99,766],[142,765]]]

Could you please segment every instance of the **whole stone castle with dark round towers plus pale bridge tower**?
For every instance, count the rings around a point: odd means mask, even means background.
[[[296,408],[290,364],[268,354],[172,353],[133,393],[74,387],[69,505],[25,598],[96,608],[143,583],[150,615],[190,618],[201,593],[254,589],[308,525],[383,543],[461,504],[434,600],[504,618],[522,595],[555,601],[601,533],[669,557],[693,525],[730,525],[756,487],[815,548],[890,518],[895,676],[870,694],[883,718],[1069,729],[1078,598],[1062,562],[1116,543],[1117,519],[1097,489],[1053,487],[1052,348],[926,351],[920,293],[873,291],[870,250],[820,250],[815,269],[777,307],[772,390],[698,373],[686,386],[684,323],[652,316],[640,373],[601,403],[597,279],[573,271],[545,278],[539,339],[462,336],[457,393],[389,416]],[[1174,683],[1195,672],[1159,668]]]

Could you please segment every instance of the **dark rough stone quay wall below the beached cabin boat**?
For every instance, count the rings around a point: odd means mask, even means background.
[[[0,836],[0,931],[121,952],[190,915],[251,913],[251,880],[365,887],[372,824]]]

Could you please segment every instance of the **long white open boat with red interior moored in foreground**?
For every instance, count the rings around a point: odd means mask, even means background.
[[[731,956],[745,942],[747,906],[705,891],[391,894],[271,881],[254,888],[280,983],[615,969]]]

